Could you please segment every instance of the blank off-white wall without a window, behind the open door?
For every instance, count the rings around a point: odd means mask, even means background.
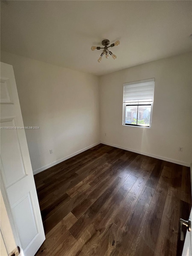
[[[13,65],[24,125],[39,126],[25,130],[34,173],[99,142],[98,77],[3,51],[1,62]]]

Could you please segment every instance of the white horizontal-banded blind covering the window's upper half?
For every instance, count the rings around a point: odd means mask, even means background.
[[[123,102],[152,101],[155,78],[131,83],[124,83]]]

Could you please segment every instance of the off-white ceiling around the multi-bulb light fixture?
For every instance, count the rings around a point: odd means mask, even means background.
[[[3,1],[1,49],[96,75],[191,51],[192,1]],[[103,39],[117,55],[102,58]]]

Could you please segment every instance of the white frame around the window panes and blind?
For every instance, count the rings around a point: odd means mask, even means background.
[[[125,126],[134,126],[134,127],[143,127],[143,128],[151,128],[151,124],[152,124],[152,110],[153,110],[153,102],[154,102],[154,91],[155,91],[155,78],[150,78],[150,79],[145,79],[145,80],[139,80],[139,81],[134,81],[134,82],[129,82],[129,83],[124,83],[124,84],[131,84],[134,85],[136,83],[145,83],[148,81],[153,81],[154,82],[154,90],[153,90],[153,100],[151,101],[151,104],[143,104],[142,101],[139,101],[140,104],[128,104],[128,102],[124,102],[123,100],[123,125]],[[123,87],[124,87],[123,84]],[[124,91],[124,88],[123,88]],[[124,93],[123,93],[124,94]],[[131,102],[131,101],[130,101]],[[135,102],[135,101],[134,101]],[[146,102],[149,102],[146,100]],[[149,121],[149,125],[140,125],[140,124],[126,124],[125,120],[126,120],[126,106],[144,106],[144,105],[151,105],[151,113],[150,113],[150,121]],[[137,117],[138,117],[138,108],[137,108]]]

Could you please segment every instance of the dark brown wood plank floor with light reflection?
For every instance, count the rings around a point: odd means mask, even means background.
[[[181,255],[189,167],[100,144],[34,176],[38,255]]]

